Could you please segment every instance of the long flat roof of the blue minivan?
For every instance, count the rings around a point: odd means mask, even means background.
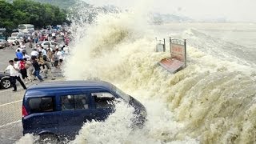
[[[94,88],[106,88],[111,90],[113,85],[109,82],[104,81],[58,81],[58,82],[42,82],[34,84],[28,87],[27,91],[30,90],[47,90],[47,89],[63,89],[63,88],[76,88],[76,87],[94,87]]]

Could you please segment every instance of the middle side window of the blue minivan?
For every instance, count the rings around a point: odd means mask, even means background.
[[[89,109],[89,98],[86,94],[61,96],[62,110]]]

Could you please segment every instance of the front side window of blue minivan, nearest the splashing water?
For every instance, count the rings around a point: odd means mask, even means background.
[[[108,92],[91,93],[91,96],[94,98],[96,109],[114,107],[114,95]]]

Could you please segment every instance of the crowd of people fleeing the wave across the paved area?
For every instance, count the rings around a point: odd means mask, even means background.
[[[27,53],[26,43],[21,42],[15,51],[16,57],[9,61],[10,65],[5,70],[5,72],[9,70],[13,91],[17,90],[16,80],[21,83],[23,89],[26,89],[25,84],[34,80],[43,82],[48,77],[55,80],[52,74],[53,68],[55,71],[62,71],[63,61],[69,54],[68,45],[62,47],[49,45],[46,48],[38,44],[36,40],[34,42],[36,44],[30,54]]]

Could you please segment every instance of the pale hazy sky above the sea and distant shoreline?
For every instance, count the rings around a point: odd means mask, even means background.
[[[129,9],[144,7],[162,14],[180,14],[196,20],[226,18],[256,22],[256,0],[83,0],[96,6],[114,5]],[[143,5],[139,4],[143,3]]]

